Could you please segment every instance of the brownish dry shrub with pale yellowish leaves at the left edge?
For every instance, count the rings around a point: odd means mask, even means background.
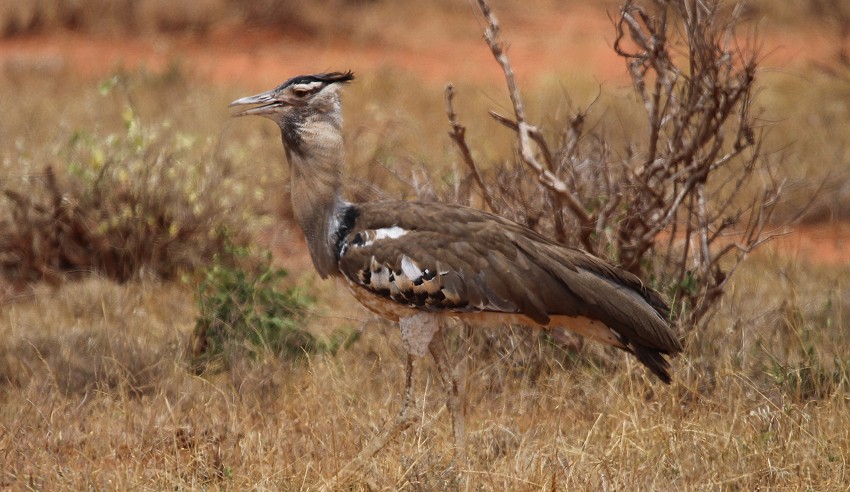
[[[132,104],[122,117],[123,133],[76,131],[41,175],[5,186],[0,275],[19,286],[80,273],[170,279],[245,242],[226,162],[195,155],[211,142],[145,127]]]

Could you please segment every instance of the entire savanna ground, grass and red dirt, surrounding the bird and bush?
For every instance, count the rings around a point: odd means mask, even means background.
[[[850,70],[828,3],[748,11],[764,54],[762,151],[786,182],[774,220],[803,222],[774,231],[714,316],[684,329],[673,384],[591,343],[454,327],[468,463],[452,459],[423,359],[421,419],[351,489],[848,488]],[[278,130],[230,120],[226,106],[296,73],[351,68],[350,193],[450,196],[462,164],[444,84],[487,166],[513,159],[512,134],[486,114],[509,102],[473,6],[422,4],[340,0],[269,19],[213,0],[173,12],[137,2],[134,17],[115,7],[102,19],[65,2],[3,7],[0,226],[15,235],[0,237],[0,489],[315,490],[390,422],[397,329],[312,272]],[[589,106],[624,151],[640,116],[611,51],[616,3],[494,7],[535,121],[557,132]],[[15,249],[24,243],[36,252]],[[212,269],[227,251],[250,270],[267,250],[289,272],[275,289],[297,289],[292,319],[316,342],[290,357],[237,342],[198,370],[198,285],[233,273]]]

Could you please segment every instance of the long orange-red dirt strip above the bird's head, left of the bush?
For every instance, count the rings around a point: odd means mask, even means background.
[[[599,14],[581,12],[505,28],[514,68],[520,76],[580,67],[581,72],[595,74],[600,80],[622,78],[622,61],[610,48],[611,22]],[[470,22],[470,29],[477,28]],[[6,67],[70,68],[95,78],[119,64],[156,71],[173,60],[179,60],[187,73],[207,80],[258,86],[277,83],[295,73],[341,68],[367,72],[387,66],[439,84],[453,79],[481,82],[501,78],[486,45],[474,35],[427,43],[405,38],[349,43],[333,38],[305,39],[273,30],[221,28],[202,38],[114,38],[53,32],[0,40],[0,63]]]

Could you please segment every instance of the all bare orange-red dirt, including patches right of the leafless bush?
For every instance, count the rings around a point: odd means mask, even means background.
[[[510,40],[510,55],[520,79],[573,69],[590,73],[599,82],[625,82],[623,61],[611,49],[614,31],[606,12],[584,8],[524,18],[502,19]],[[471,30],[479,25],[470,21]],[[834,38],[826,29],[778,31],[762,29],[761,66],[786,70],[829,59]],[[71,70],[100,78],[117,65],[164,70],[177,60],[184,71],[221,83],[264,88],[294,73],[351,68],[368,72],[396,67],[426,83],[498,82],[502,75],[480,36],[440,38],[439,41],[360,42],[317,41],[269,30],[222,28],[204,37],[104,37],[74,32],[0,40],[0,67],[6,71]],[[850,263],[850,224],[796,227],[777,238],[770,248],[783,254],[824,264]]]

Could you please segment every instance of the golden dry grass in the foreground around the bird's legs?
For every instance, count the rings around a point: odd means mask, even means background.
[[[847,273],[753,260],[718,322],[689,341],[669,388],[619,355],[579,354],[563,370],[552,360],[520,367],[515,357],[471,354],[463,471],[446,452],[448,417],[425,361],[421,425],[379,455],[357,488],[444,489],[467,477],[485,490],[836,490],[850,450]],[[311,489],[398,404],[402,348],[391,327],[370,326],[336,357],[246,363],[202,379],[183,357],[190,306],[177,285],[97,279],[7,306],[4,486]],[[348,307],[356,314],[345,322],[370,318]],[[818,360],[844,358],[829,368],[838,380],[802,360],[807,344]],[[774,359],[815,369],[811,383],[822,391],[781,381]]]

